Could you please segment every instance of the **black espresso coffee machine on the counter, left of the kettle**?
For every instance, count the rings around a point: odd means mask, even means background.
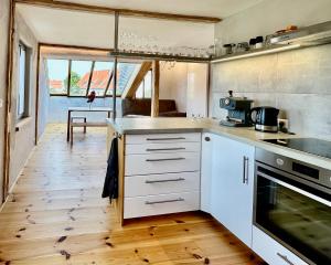
[[[226,120],[220,124],[231,127],[250,127],[250,106],[253,100],[247,97],[234,97],[233,91],[228,92],[228,97],[220,99],[220,107],[227,109]]]

